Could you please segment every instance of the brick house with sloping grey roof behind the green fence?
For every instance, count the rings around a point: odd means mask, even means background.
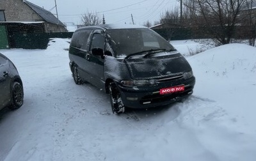
[[[0,23],[40,24],[44,33],[67,32],[66,26],[50,11],[26,0],[1,0]],[[37,30],[38,31],[38,30]],[[31,31],[33,32],[33,31]]]

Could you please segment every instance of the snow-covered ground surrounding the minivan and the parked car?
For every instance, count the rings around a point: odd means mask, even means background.
[[[24,82],[24,105],[0,111],[0,160],[256,160],[256,48],[215,47],[186,57],[188,100],[111,113],[109,97],[74,83],[67,39],[46,50],[0,50]],[[171,42],[186,56],[204,45]],[[66,49],[66,50],[65,50]]]

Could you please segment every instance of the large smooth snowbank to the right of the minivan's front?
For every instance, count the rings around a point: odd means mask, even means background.
[[[188,60],[197,78],[195,95],[218,100],[228,114],[246,120],[253,129],[256,48],[234,43],[207,50]]]

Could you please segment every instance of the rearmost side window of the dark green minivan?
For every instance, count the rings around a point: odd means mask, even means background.
[[[74,35],[72,36],[72,41],[70,45],[78,49],[86,50],[86,47],[88,44],[88,38],[91,32],[92,32],[92,29],[84,29],[84,30],[75,32]]]

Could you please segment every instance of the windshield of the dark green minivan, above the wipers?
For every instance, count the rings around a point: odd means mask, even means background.
[[[135,54],[147,54],[150,50],[175,50],[164,38],[151,29],[109,29],[109,43],[115,50],[116,57]],[[145,51],[145,53],[144,53]]]

